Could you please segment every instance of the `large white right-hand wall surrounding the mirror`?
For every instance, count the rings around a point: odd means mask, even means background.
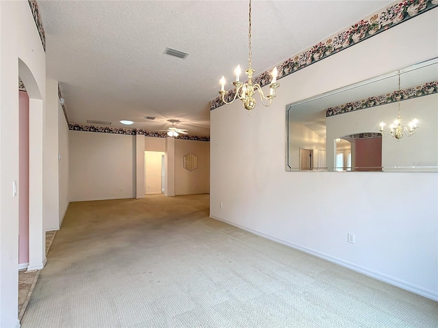
[[[437,57],[437,21],[430,10],[294,72],[250,116],[238,100],[211,111],[211,217],[438,300],[438,175],[285,172],[284,137],[285,105]]]

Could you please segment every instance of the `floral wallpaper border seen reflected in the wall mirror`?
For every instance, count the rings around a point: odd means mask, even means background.
[[[354,102],[347,102],[335,107],[329,107],[326,109],[326,117],[350,113],[350,111],[359,111],[360,109],[376,107],[380,105],[390,104],[391,102],[398,102],[399,100],[407,100],[422,96],[428,96],[429,94],[436,94],[438,92],[438,81],[432,81],[417,85],[416,87],[407,87],[400,91],[396,90],[389,94],[381,94]]]

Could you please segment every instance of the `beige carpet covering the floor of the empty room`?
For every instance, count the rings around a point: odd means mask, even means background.
[[[435,301],[208,215],[208,195],[71,203],[22,327],[438,327]]]

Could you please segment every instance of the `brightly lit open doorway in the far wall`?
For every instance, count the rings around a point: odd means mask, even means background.
[[[164,193],[164,152],[144,152],[144,195]]]

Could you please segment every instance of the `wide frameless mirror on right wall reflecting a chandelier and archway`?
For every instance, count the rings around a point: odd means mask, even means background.
[[[399,104],[401,125],[417,118],[418,128],[398,140]],[[434,58],[286,105],[286,170],[438,172],[437,131]]]

